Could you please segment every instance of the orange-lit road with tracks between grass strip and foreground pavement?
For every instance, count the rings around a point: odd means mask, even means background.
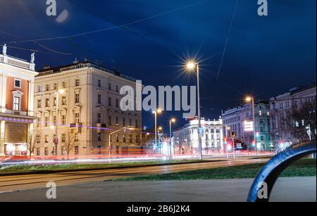
[[[118,168],[111,170],[90,170],[81,172],[59,172],[55,174],[21,174],[14,176],[0,176],[0,193],[6,191],[21,191],[25,189],[40,189],[46,187],[47,182],[55,182],[57,186],[82,184],[87,182],[102,182],[108,179],[133,177],[137,175],[164,174],[185,170],[245,165],[249,163],[263,163],[268,159],[239,158],[237,160],[211,160],[208,163],[190,163],[181,165],[162,165]],[[6,196],[6,194],[1,194]]]

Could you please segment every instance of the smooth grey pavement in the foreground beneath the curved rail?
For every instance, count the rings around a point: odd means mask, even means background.
[[[0,193],[0,201],[246,201],[253,179],[194,181],[95,182],[60,186],[56,200],[46,189]],[[271,201],[316,202],[316,177],[280,178]]]

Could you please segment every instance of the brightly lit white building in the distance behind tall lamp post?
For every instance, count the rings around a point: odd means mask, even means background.
[[[223,120],[201,120],[202,149],[223,150]],[[198,120],[191,120],[185,127],[173,133],[174,145],[199,148]]]

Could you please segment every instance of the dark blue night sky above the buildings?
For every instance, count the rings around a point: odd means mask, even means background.
[[[46,15],[44,0],[0,0],[0,44],[42,51],[37,69],[71,63],[75,57],[102,61],[109,68],[141,79],[144,84],[195,84],[177,65],[197,56],[201,63],[201,106],[206,118],[238,105],[244,94],[268,99],[291,87],[316,80],[316,0],[269,0],[268,16],[257,15],[256,0],[239,0],[219,79],[216,73],[235,0],[56,0],[57,23]],[[198,3],[198,4],[196,4]],[[191,5],[191,6],[189,6]],[[154,15],[154,18],[149,18]],[[61,37],[149,18],[128,28],[113,28],[66,39]],[[130,32],[129,32],[130,31]],[[31,51],[8,48],[8,54],[30,58]],[[181,113],[164,113],[159,124]],[[144,113],[144,125],[153,125]],[[184,121],[179,121],[181,126]],[[167,129],[167,128],[166,128]]]

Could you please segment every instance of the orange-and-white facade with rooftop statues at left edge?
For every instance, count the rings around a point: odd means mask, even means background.
[[[0,155],[25,155],[32,129],[35,63],[0,54]]]

